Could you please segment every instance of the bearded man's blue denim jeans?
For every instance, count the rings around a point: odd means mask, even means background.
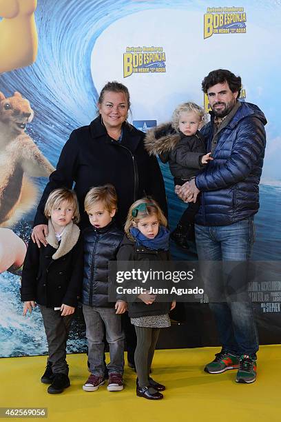
[[[196,247],[199,260],[204,261],[248,261],[254,241],[253,218],[244,219],[231,225],[203,226],[195,225]],[[204,263],[205,265],[205,263]],[[206,263],[207,265],[207,263]],[[221,279],[222,274],[216,272],[216,268],[222,269],[222,265],[213,265],[209,272],[207,285],[210,290],[212,285]],[[229,266],[227,267],[229,268]],[[240,277],[237,285],[247,290],[247,277]],[[206,273],[205,273],[206,275]],[[222,280],[222,284],[225,279]],[[235,283],[234,283],[235,284]],[[224,285],[225,287],[225,285]],[[233,354],[249,354],[256,359],[258,351],[258,331],[253,318],[253,305],[247,300],[228,300],[223,303],[209,303],[214,312],[216,325],[222,349]]]

